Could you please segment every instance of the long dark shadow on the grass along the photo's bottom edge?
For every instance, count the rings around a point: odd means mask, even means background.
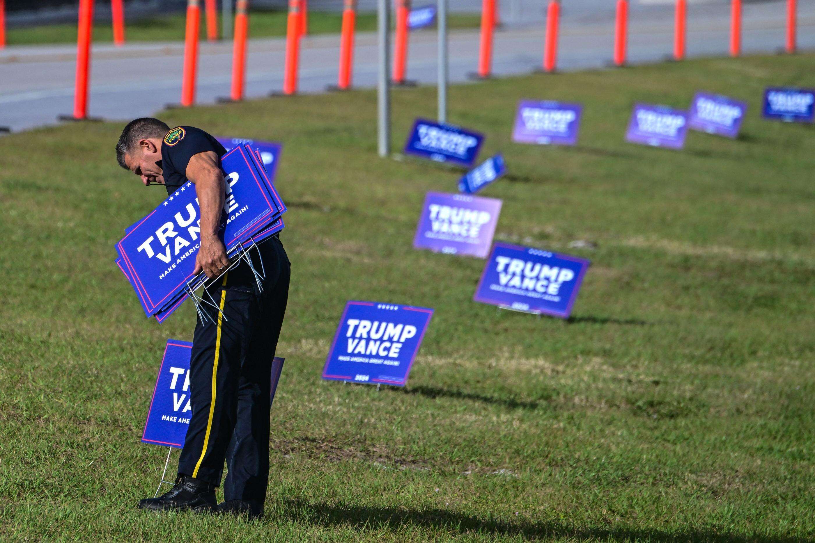
[[[401,509],[395,507],[351,506],[338,502],[308,503],[303,500],[286,500],[280,504],[282,515],[295,522],[318,524],[324,528],[333,526],[357,526],[360,531],[377,531],[382,528],[439,529],[448,532],[489,534],[523,539],[567,537],[571,541],[711,541],[713,543],[804,543],[802,537],[787,536],[738,536],[729,533],[699,530],[663,532],[659,530],[631,530],[627,528],[575,528],[559,522],[530,522],[518,519],[507,522],[497,519],[479,519],[443,509]]]

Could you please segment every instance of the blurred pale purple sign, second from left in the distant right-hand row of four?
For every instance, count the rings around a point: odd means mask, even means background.
[[[681,149],[688,132],[688,113],[664,106],[637,103],[628,122],[626,140],[652,147]]]

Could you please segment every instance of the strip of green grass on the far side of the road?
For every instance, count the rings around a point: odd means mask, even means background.
[[[286,35],[288,14],[285,11],[253,10],[249,15],[249,37],[280,37]],[[128,42],[173,42],[184,39],[186,16],[174,13],[128,22],[125,38]],[[325,11],[309,12],[310,34],[338,34],[342,24],[341,13]],[[449,28],[475,28],[481,24],[478,14],[451,14],[447,18]],[[377,29],[377,15],[370,12],[357,14],[356,29],[359,32]],[[221,25],[218,19],[218,33]],[[200,39],[206,39],[206,18],[201,13]],[[75,43],[76,24],[46,24],[22,28],[9,28],[7,43],[32,45],[37,43]],[[109,22],[94,24],[94,42],[112,42],[113,31]]]

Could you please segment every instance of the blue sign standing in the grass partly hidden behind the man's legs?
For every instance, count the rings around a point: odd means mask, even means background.
[[[190,401],[190,358],[192,343],[168,339],[161,358],[161,367],[153,388],[148,420],[144,424],[142,442],[181,449],[190,427],[192,403]],[[271,362],[271,398],[275,398],[283,358]]]

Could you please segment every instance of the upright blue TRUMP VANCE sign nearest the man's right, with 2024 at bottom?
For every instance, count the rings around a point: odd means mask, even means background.
[[[328,351],[323,379],[403,387],[433,309],[350,301]]]

